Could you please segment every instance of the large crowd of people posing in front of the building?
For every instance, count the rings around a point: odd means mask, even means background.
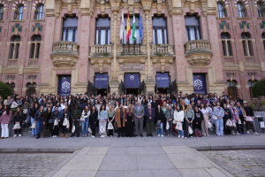
[[[254,128],[254,112],[246,101],[237,96],[217,94],[160,94],[155,96],[110,95],[60,96],[43,94],[38,98],[31,96],[0,96],[1,139],[9,137],[9,123],[19,124],[14,130],[14,137],[21,136],[21,128],[31,127],[31,134],[36,139],[57,137],[87,137],[88,132],[95,137],[96,128],[100,136],[143,137],[143,128],[147,135],[153,136],[154,127],[158,136],[168,136],[176,130],[179,138],[193,137],[199,132],[208,136],[208,129],[216,127],[216,135],[245,135],[249,129],[259,135]],[[81,127],[81,132],[79,131]],[[198,135],[197,135],[198,136]]]

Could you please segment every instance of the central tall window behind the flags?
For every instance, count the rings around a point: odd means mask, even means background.
[[[140,16],[135,14],[135,25],[136,25],[136,39],[133,42],[133,16],[130,16],[130,26],[131,26],[131,35],[130,38],[128,40],[128,42],[126,42],[126,33],[127,33],[127,15],[125,15],[124,17],[125,21],[125,31],[124,31],[124,38],[122,43],[123,44],[140,44],[141,43],[141,39],[140,39],[140,34],[139,34],[139,21],[140,21]]]

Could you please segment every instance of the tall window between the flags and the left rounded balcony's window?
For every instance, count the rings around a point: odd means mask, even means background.
[[[99,17],[95,22],[95,44],[110,44],[110,18]]]

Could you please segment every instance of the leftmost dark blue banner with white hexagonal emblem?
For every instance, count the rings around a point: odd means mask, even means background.
[[[60,94],[60,96],[71,95],[71,76],[59,76],[58,94]]]

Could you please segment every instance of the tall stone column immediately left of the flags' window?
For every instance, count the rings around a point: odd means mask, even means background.
[[[112,26],[112,30],[113,30],[113,62],[112,62],[112,67],[113,67],[113,73],[111,73],[112,78],[110,81],[110,94],[112,94],[113,92],[115,92],[116,94],[118,93],[118,87],[119,87],[119,82],[117,81],[117,13],[119,10],[119,4],[114,2],[114,1],[110,1],[111,4],[111,10],[112,10],[112,18],[113,18],[113,26]]]

